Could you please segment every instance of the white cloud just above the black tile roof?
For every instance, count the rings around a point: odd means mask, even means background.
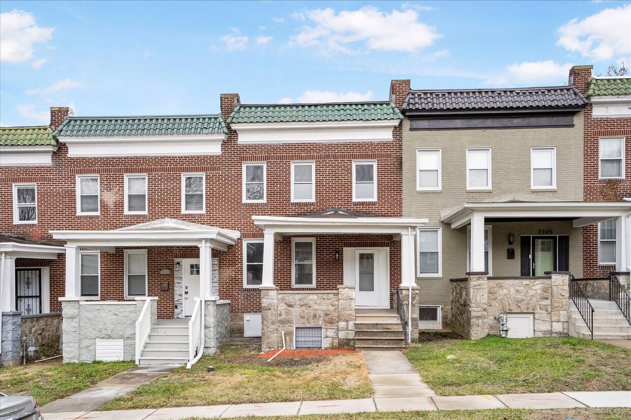
[[[535,84],[562,84],[567,79],[572,64],[558,64],[554,60],[511,64],[503,72],[483,82],[486,86],[533,86]]]

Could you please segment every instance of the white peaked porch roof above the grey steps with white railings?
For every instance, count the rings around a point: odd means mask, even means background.
[[[241,236],[237,230],[177,219],[159,219],[113,230],[51,230],[69,245],[113,251],[117,246],[199,246],[203,240],[226,250]]]

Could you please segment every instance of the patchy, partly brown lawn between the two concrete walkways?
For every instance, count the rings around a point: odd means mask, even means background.
[[[369,398],[372,387],[361,353],[257,357],[260,348],[222,346],[192,366],[177,368],[99,410],[213,406],[254,402]],[[206,372],[213,366],[215,372]]]

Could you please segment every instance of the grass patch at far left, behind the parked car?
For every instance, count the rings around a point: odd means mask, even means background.
[[[33,363],[0,368],[0,390],[8,395],[33,395],[40,406],[58,400],[136,366],[133,361]]]

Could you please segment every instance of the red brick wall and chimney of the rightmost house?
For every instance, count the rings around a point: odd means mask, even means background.
[[[574,67],[570,78],[581,93],[586,94],[591,66]],[[625,177],[624,179],[599,179],[598,139],[606,136],[624,136]],[[631,196],[631,118],[593,118],[592,104],[584,110],[583,140],[583,200],[620,201]],[[616,271],[615,266],[598,265],[598,225],[583,228],[583,276],[607,276]]]

